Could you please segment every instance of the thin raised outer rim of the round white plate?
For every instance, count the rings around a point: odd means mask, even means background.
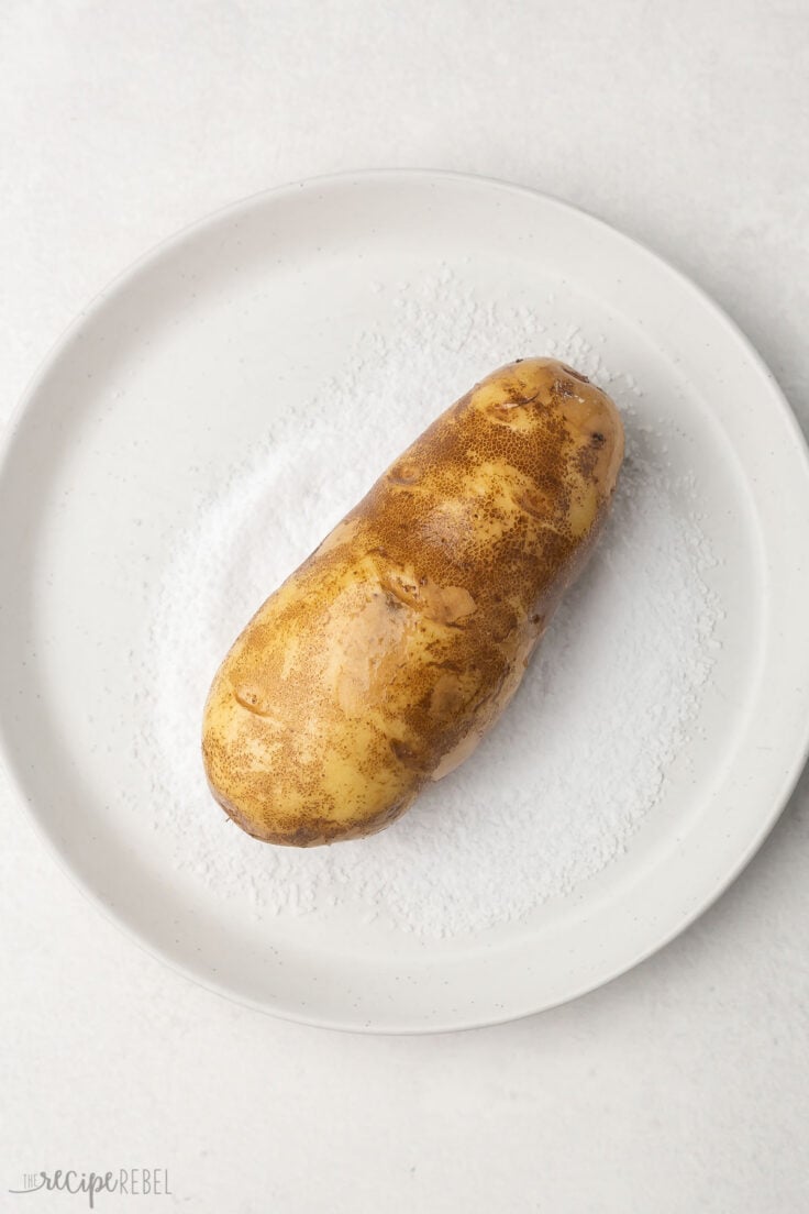
[[[807,503],[809,505],[809,443],[801,424],[792,410],[788,399],[782,391],[780,384],[777,382],[771,369],[768,367],[767,362],[758,352],[753,342],[747,337],[739,323],[733,319],[733,317],[719,305],[699,283],[694,282],[689,274],[679,270],[673,265],[667,257],[656,253],[653,248],[636,237],[628,236],[620,228],[614,227],[605,220],[591,211],[574,205],[565,199],[558,198],[553,194],[546,193],[543,191],[532,189],[529,186],[523,186],[511,181],[503,181],[497,177],[491,177],[484,174],[471,174],[456,170],[443,170],[443,169],[429,169],[429,168],[387,168],[387,169],[360,169],[349,170],[340,172],[329,172],[324,175],[315,175],[312,177],[300,178],[285,185],[260,189],[243,198],[235,199],[233,202],[226,203],[203,216],[183,225],[182,227],[175,229],[169,236],[164,237],[155,244],[146,249],[139,256],[133,261],[129,262],[119,273],[110,278],[102,288],[98,290],[92,299],[81,308],[74,319],[59,333],[55,341],[50,344],[39,361],[38,367],[28,380],[22,395],[19,396],[16,404],[12,407],[8,418],[0,433],[0,481],[4,478],[8,461],[12,458],[15,438],[21,427],[23,418],[32,402],[35,399],[40,385],[45,380],[46,375],[50,373],[51,367],[63,350],[70,344],[70,341],[80,333],[82,325],[92,319],[104,306],[108,297],[114,295],[116,291],[123,290],[126,285],[144,268],[155,263],[160,260],[163,254],[177,244],[180,244],[186,237],[190,234],[199,234],[206,227],[213,227],[217,222],[226,217],[237,217],[240,211],[249,210],[260,203],[270,202],[274,198],[284,198],[298,194],[304,189],[318,189],[327,188],[332,186],[348,186],[352,183],[363,185],[365,182],[382,183],[388,181],[389,183],[415,181],[415,180],[437,180],[437,181],[456,181],[460,185],[468,185],[474,187],[488,187],[494,192],[513,193],[522,195],[528,200],[543,202],[551,204],[552,206],[559,208],[562,211],[572,216],[577,221],[585,221],[593,225],[596,228],[602,229],[609,236],[610,239],[622,242],[628,249],[634,249],[640,251],[644,257],[654,262],[657,271],[662,271],[668,274],[679,288],[685,288],[696,300],[702,305],[703,308],[711,313],[712,319],[720,325],[731,339],[736,341],[742,348],[750,361],[750,363],[759,371],[759,374],[765,379],[770,388],[769,405],[776,407],[780,412],[781,420],[786,424],[786,431],[791,437],[791,446],[794,454],[802,460],[803,464],[803,477],[807,489]],[[786,753],[781,756],[786,760]],[[203,987],[204,989],[212,991],[216,994],[235,1003],[239,1006],[247,1006],[256,1011],[261,1011],[264,1015],[277,1016],[283,1020],[287,1020],[295,1023],[304,1023],[312,1027],[330,1028],[343,1032],[361,1032],[378,1036],[423,1036],[426,1033],[444,1033],[444,1032],[458,1032],[468,1031],[473,1028],[482,1028],[486,1026],[495,1026],[501,1023],[507,1023],[513,1020],[520,1020],[526,1016],[536,1015],[541,1011],[549,1011],[553,1008],[564,1005],[565,1003],[571,1003],[575,999],[580,999],[582,995],[588,994],[591,991],[596,991],[602,986],[606,986],[609,982],[615,981],[623,974],[629,972],[637,965],[642,964],[655,953],[660,952],[668,943],[671,943],[677,936],[684,932],[691,924],[696,921],[706,910],[708,910],[720,897],[727,892],[729,886],[736,880],[736,878],[744,872],[747,864],[751,862],[753,856],[758,852],[764,840],[768,838],[773,828],[775,827],[781,813],[786,809],[792,793],[798,784],[801,775],[809,759],[809,716],[807,716],[801,745],[794,747],[794,754],[788,762],[784,764],[784,775],[777,785],[777,789],[773,793],[769,800],[769,809],[767,812],[762,813],[760,823],[758,830],[748,841],[747,847],[735,857],[734,862],[728,866],[728,870],[719,881],[713,881],[711,892],[707,897],[701,897],[696,901],[695,906],[691,907],[686,913],[677,917],[676,921],[667,930],[660,935],[655,935],[654,943],[645,944],[637,953],[633,953],[628,960],[621,961],[620,965],[613,966],[608,972],[594,977],[592,981],[586,981],[579,987],[574,988],[571,992],[562,998],[554,998],[552,1000],[540,999],[536,1005],[525,1008],[517,1011],[503,1011],[498,1015],[492,1015],[488,1012],[484,1019],[474,1019],[467,1011],[463,1017],[455,1021],[438,1021],[435,1023],[411,1023],[405,1022],[403,1025],[391,1025],[386,1022],[384,1025],[374,1025],[366,1022],[348,1022],[348,1020],[340,1020],[331,1017],[329,1015],[314,1015],[311,1011],[290,1011],[284,1006],[269,1005],[266,1002],[253,999],[249,995],[243,995],[237,993],[232,987],[224,986],[217,982],[211,975],[201,975],[194,971],[190,965],[175,958],[160,944],[155,943],[150,938],[147,938],[139,932],[130,921],[119,913],[114,907],[107,904],[102,896],[92,887],[91,884],[86,883],[74,869],[69,862],[65,853],[57,845],[56,838],[46,827],[45,822],[40,817],[36,806],[33,804],[32,799],[28,796],[21,772],[17,768],[17,764],[13,758],[12,747],[10,739],[6,737],[6,732],[2,727],[2,720],[0,719],[0,765],[5,776],[5,781],[10,792],[10,800],[17,802],[19,809],[23,811],[23,816],[28,821],[29,826],[34,829],[35,834],[45,844],[47,851],[50,851],[52,858],[55,860],[57,867],[61,872],[69,879],[70,884],[78,889],[85,898],[101,912],[104,919],[112,923],[119,931],[131,940],[138,948],[141,948],[148,955],[158,959],[163,964],[170,966],[176,972],[181,974],[183,977],[188,978],[194,985]]]

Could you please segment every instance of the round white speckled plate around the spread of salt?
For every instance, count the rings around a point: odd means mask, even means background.
[[[665,796],[626,855],[568,897],[463,941],[414,938],[347,910],[262,920],[177,872],[161,846],[132,753],[143,708],[129,654],[175,533],[268,410],[304,410],[363,327],[384,325],[380,284],[417,282],[438,263],[469,296],[537,304],[597,334],[608,364],[642,385],[639,409],[676,420],[670,458],[694,472],[718,558],[720,648]],[[785,805],[808,741],[808,531],[807,453],[771,376],[645,249],[562,203],[455,175],[376,172],[261,194],[119,278],[17,414],[0,476],[6,764],[97,904],[223,994],[369,1031],[525,1015],[671,940]],[[141,813],[123,811],[121,788]]]

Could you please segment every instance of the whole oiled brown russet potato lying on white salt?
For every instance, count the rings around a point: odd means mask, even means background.
[[[482,380],[264,602],[205,705],[211,790],[249,834],[371,834],[503,710],[604,520],[619,413],[563,363]]]

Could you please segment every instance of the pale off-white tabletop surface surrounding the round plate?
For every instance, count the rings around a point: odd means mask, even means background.
[[[4,404],[164,232],[398,163],[519,180],[648,240],[742,324],[805,424],[808,32],[803,4],[6,5]],[[627,977],[421,1040],[284,1025],[188,985],[10,811],[0,1180],[166,1165],[203,1214],[799,1212],[808,794],[804,777],[730,892]]]

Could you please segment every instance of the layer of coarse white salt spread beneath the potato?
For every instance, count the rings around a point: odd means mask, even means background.
[[[387,301],[383,284],[378,294]],[[484,305],[446,273],[399,290],[389,308],[314,399],[279,410],[260,450],[178,537],[135,668],[137,748],[161,845],[246,914],[351,906],[446,937],[522,919],[626,850],[688,743],[720,611],[665,425],[642,424],[638,388],[603,365],[598,335],[543,331],[529,308]],[[614,396],[627,455],[605,533],[514,702],[475,755],[382,834],[312,851],[249,839],[201,767],[218,662],[387,463],[477,379],[532,353],[562,357]]]

